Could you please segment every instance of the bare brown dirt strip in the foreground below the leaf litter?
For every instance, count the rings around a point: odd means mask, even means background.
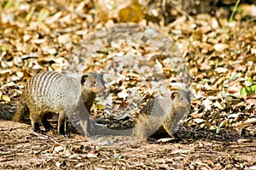
[[[166,142],[125,136],[85,139],[73,133],[63,137],[55,131],[33,133],[30,125],[9,121],[13,108],[1,108],[6,115],[0,120],[0,169],[256,168],[256,139],[234,132],[216,135],[192,129],[189,138]]]

